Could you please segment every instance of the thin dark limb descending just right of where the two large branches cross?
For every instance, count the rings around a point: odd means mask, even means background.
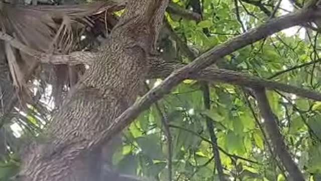
[[[205,109],[210,110],[211,109],[210,88],[206,82],[203,83],[203,99],[204,99]],[[220,181],[225,181],[226,179],[224,177],[220,152],[219,152],[219,149],[215,146],[218,144],[217,144],[217,137],[215,134],[213,121],[211,120],[211,118],[209,118],[207,116],[205,117],[205,119],[206,119],[207,129],[208,129],[208,132],[209,132],[209,135],[211,138],[211,142],[212,142],[212,152],[213,152],[213,156],[215,158],[216,170],[219,175]],[[215,172],[215,170],[214,170],[214,172]]]

